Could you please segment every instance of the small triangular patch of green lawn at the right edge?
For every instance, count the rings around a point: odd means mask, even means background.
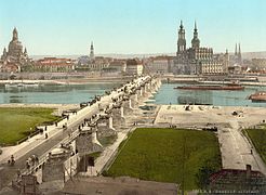
[[[256,151],[263,158],[266,164],[266,127],[263,129],[248,129],[248,135],[250,136],[253,145],[256,147]]]

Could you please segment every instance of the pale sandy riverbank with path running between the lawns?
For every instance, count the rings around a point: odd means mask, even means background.
[[[254,127],[266,119],[266,108],[243,106],[162,105],[155,120],[157,127],[176,126],[197,129],[216,128],[223,168],[253,170],[266,174],[266,166],[243,135],[242,129]]]

